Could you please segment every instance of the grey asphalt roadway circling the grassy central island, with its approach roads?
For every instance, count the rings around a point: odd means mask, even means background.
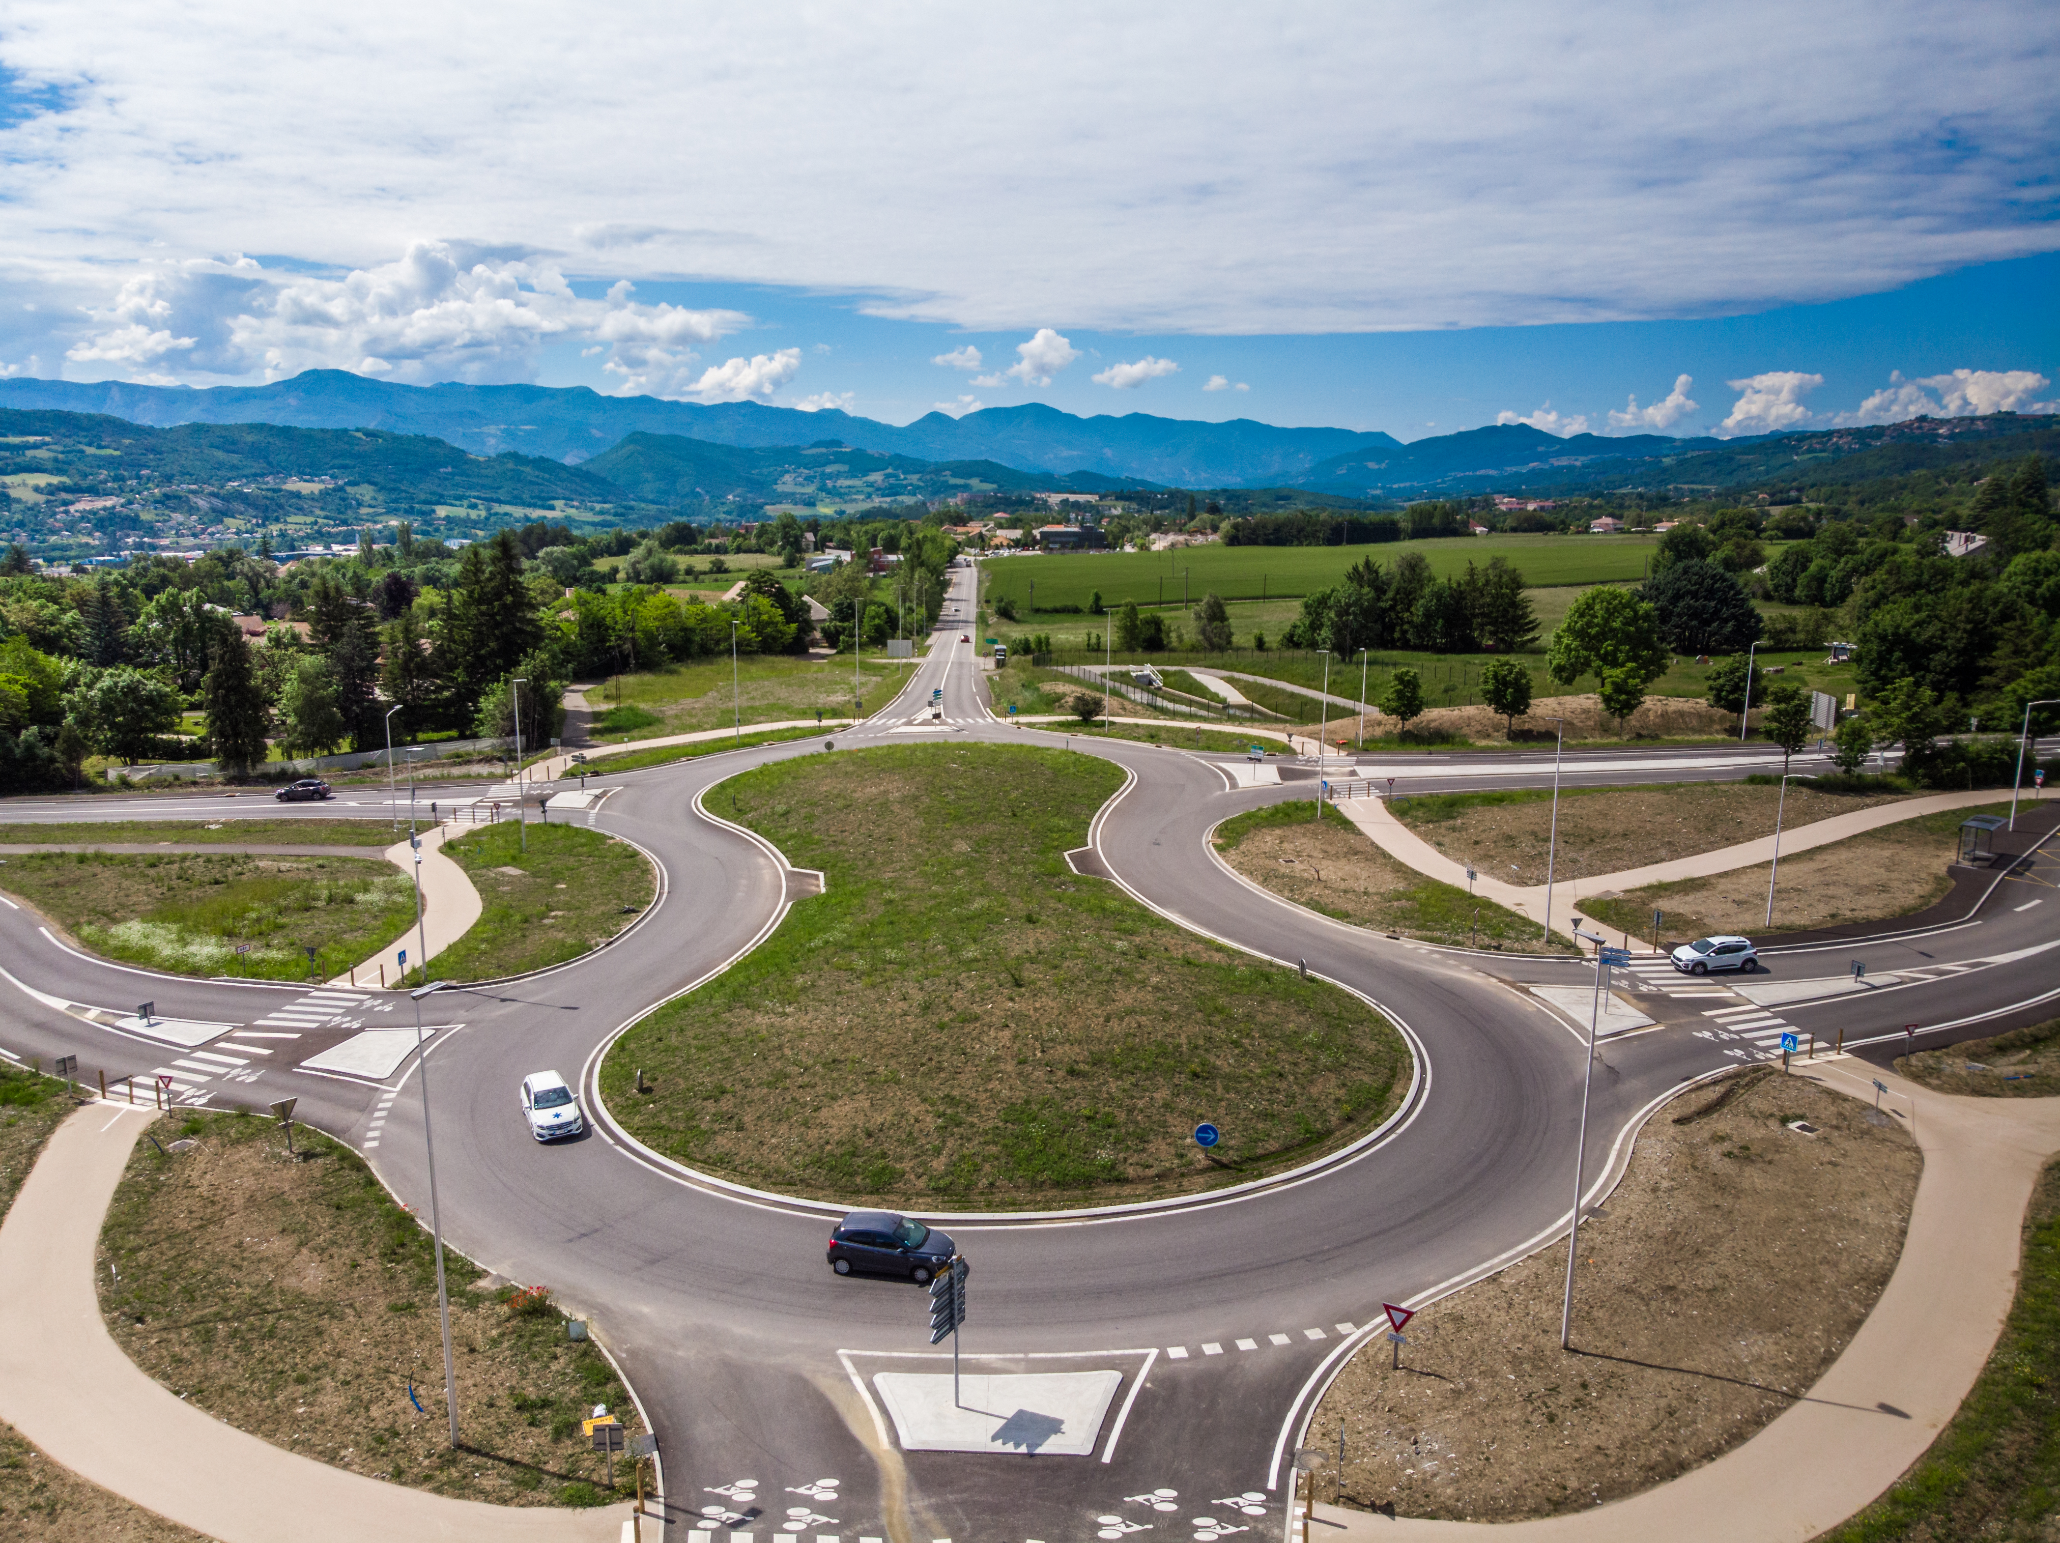
[[[981,663],[958,641],[972,630],[970,575],[958,575],[954,602],[960,610],[946,614],[908,688],[859,729],[838,731],[838,752],[925,738],[1065,742],[987,715]],[[540,1067],[577,1079],[595,1108],[593,1069],[610,1038],[721,970],[805,892],[777,853],[711,818],[698,797],[746,766],[824,754],[822,742],[589,775],[589,789],[612,791],[577,818],[653,855],[659,902],[587,960],[431,997],[428,1055],[389,1075],[305,1063],[367,1028],[412,1028],[414,1005],[400,993],[132,970],[64,950],[12,902],[0,908],[0,1047],[45,1065],[76,1055],[89,1082],[105,1069],[148,1090],[169,1073],[187,1104],[295,1096],[301,1119],[365,1150],[422,1213],[426,1077],[445,1236],[486,1269],[550,1285],[595,1318],[659,1434],[665,1502],[682,1524],[723,1527],[705,1514],[713,1506],[737,1531],[1057,1543],[1106,1533],[1100,1516],[1164,1533],[1176,1516],[1215,1514],[1257,1535],[1281,1524],[1281,1459],[1323,1372],[1368,1331],[1380,1302],[1430,1294],[1564,1228],[1584,1034],[1524,987],[1584,987],[1592,966],[1393,941],[1261,896],[1211,857],[1205,834],[1246,808],[1306,797],[1306,783],[1228,791],[1222,758],[1094,735],[1071,744],[1133,773],[1090,843],[1112,882],[1236,948],[1306,962],[1376,1003],[1417,1049],[1405,1112],[1310,1172],[1108,1215],[943,1220],[976,1267],[968,1370],[1123,1374],[1092,1456],[900,1452],[873,1374],[948,1362],[925,1345],[919,1290],[828,1273],[832,1207],[700,1180],[634,1150],[606,1121],[587,1139],[538,1147],[519,1119],[515,1084]],[[1765,760],[1757,746],[1601,752],[1568,756],[1561,775],[1716,779]],[[1409,756],[1395,775],[1411,777],[1407,791],[1524,787],[1551,781],[1551,756]],[[464,793],[439,785],[437,797]],[[342,808],[198,793],[14,799],[0,820],[346,812],[387,814],[383,789],[354,789]],[[2041,999],[2060,991],[2046,950],[2060,946],[2060,902],[2025,900],[2041,898],[2060,865],[2037,857],[2033,867],[2002,882],[1969,923],[1772,954],[1770,970],[1747,985],[1786,989],[1794,1001],[1759,1003],[1720,987],[1681,995],[1695,983],[1636,979],[1648,987],[1636,1001],[1654,1024],[1599,1049],[1584,1182],[1603,1174],[1642,1108],[1685,1079],[1765,1059],[1782,1028],[1893,1053],[1906,1022],[1941,1042],[2050,1016]],[[1873,985],[1852,985],[1850,960],[1868,966]],[[1819,985],[1800,985],[1809,981]],[[146,999],[159,1020],[218,1028],[167,1044],[173,1030],[163,1022],[122,1018]],[[1176,1516],[1154,1508],[1160,1489],[1176,1491]],[[1246,1494],[1257,1504],[1217,1504]],[[791,1508],[797,1529],[787,1527]]]

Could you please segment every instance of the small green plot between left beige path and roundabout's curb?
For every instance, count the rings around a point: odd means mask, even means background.
[[[527,843],[523,851],[523,832],[505,820],[445,845],[484,908],[435,958],[437,979],[499,981],[575,960],[628,927],[657,894],[657,876],[626,841],[531,820]]]

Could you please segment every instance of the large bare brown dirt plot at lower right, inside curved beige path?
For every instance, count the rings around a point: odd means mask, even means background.
[[[1922,1158],[1802,1075],[1737,1082],[1702,1119],[1708,1086],[1660,1108],[1582,1226],[1576,1353],[1559,1349],[1559,1244],[1426,1308],[1401,1372],[1378,1341],[1345,1366],[1310,1430],[1325,1452],[1345,1432],[1345,1504],[1584,1510],[1730,1450],[1825,1372],[1895,1269]],[[1796,1117],[1815,1135],[1784,1127]]]

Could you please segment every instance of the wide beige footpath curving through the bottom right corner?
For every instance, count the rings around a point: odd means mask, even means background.
[[[1796,1069],[1868,1100],[1870,1073],[1854,1061]],[[1800,1543],[1873,1504],[1924,1454],[1988,1362],[2017,1294],[2031,1187],[2060,1152],[2060,1098],[1951,1098],[1893,1073],[1883,1079],[1893,1090],[1885,1104],[1914,1119],[1924,1150],[1910,1236],[1873,1314],[1784,1415],[1671,1483],[1572,1516],[1388,1520],[1318,1502],[1308,1543]]]

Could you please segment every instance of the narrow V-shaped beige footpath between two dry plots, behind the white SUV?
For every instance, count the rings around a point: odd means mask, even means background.
[[[1848,836],[1858,836],[1866,830],[1881,830],[1883,826],[1916,820],[1926,814],[1996,803],[1998,797],[2006,801],[2008,789],[2002,789],[2000,795],[1992,787],[1976,789],[1971,793],[1932,793],[1930,797],[1903,799],[1901,803],[1879,803],[1870,810],[1856,810],[1854,814],[1835,814],[1829,820],[1817,820],[1815,824],[1784,830],[1782,857],[1794,857],[1796,853],[1811,851],[1813,847],[1825,847],[1833,841],[1846,841]],[[1341,799],[1331,808],[1351,820],[1351,824],[1364,830],[1376,847],[1397,861],[1407,863],[1428,878],[1467,888],[1467,865],[1452,861],[1423,841],[1423,836],[1397,820],[1388,810],[1386,799]],[[1759,836],[1757,841],[1741,841],[1737,847],[1718,847],[1716,851],[1695,853],[1693,857],[1677,857],[1671,863],[1650,863],[1646,867],[1627,867],[1619,873],[1590,873],[1588,878],[1578,880],[1557,880],[1551,886],[1551,925],[1553,931],[1572,937],[1574,911],[1580,906],[1580,900],[1586,900],[1588,896],[1638,890],[1646,884],[1669,884],[1673,880],[1730,873],[1732,869],[1757,867],[1759,863],[1772,859],[1774,836]],[[1543,884],[1508,884],[1481,873],[1473,882],[1473,892],[1487,896],[1500,906],[1508,906],[1520,917],[1531,917],[1533,921],[1545,919]]]

